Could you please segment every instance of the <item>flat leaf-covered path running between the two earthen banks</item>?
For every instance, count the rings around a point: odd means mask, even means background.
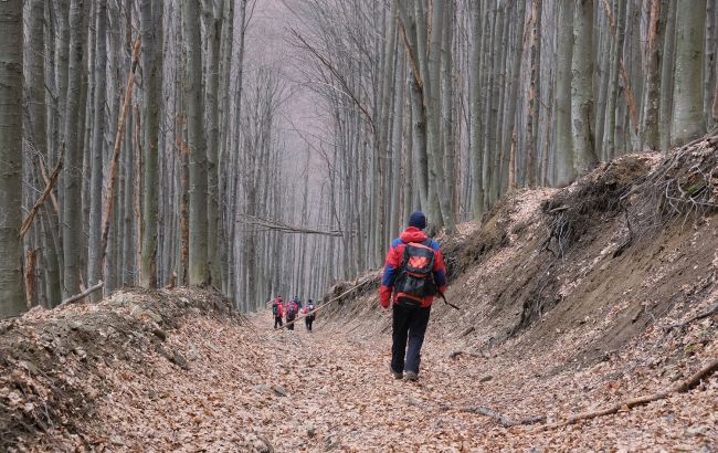
[[[265,317],[243,324],[191,318],[167,340],[188,369],[156,354],[139,375],[124,362],[107,367],[115,390],[82,443],[158,452],[711,451],[718,444],[715,379],[708,389],[562,430],[506,429],[456,408],[553,417],[621,393],[610,384],[589,388],[594,382],[582,373],[540,375],[550,370],[540,360],[452,359],[451,345],[431,326],[421,380],[397,381],[381,323],[344,329],[319,319],[312,334],[270,325]],[[66,446],[77,441],[62,440]]]

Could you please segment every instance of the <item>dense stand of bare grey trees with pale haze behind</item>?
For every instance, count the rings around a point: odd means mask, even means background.
[[[101,282],[320,298],[414,210],[453,233],[685,145],[718,120],[717,7],[0,1],[0,317]]]

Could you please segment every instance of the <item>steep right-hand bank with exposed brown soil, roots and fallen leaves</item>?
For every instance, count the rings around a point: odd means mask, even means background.
[[[669,389],[718,359],[716,141],[629,156],[562,190],[518,192],[481,228],[443,239],[447,296],[462,310],[434,304],[427,355],[455,358],[462,405],[557,422]],[[378,314],[378,278],[330,309],[367,340],[391,329]],[[675,428],[677,411],[695,411],[673,442],[715,446],[717,389],[712,377],[691,396],[573,429],[650,441]]]

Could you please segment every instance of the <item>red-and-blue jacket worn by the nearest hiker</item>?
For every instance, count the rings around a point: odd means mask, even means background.
[[[387,264],[384,265],[384,274],[381,278],[381,287],[379,288],[379,302],[382,307],[389,308],[389,304],[392,299],[397,273],[404,259],[404,247],[410,242],[424,242],[426,239],[429,239],[429,236],[422,230],[415,227],[409,227],[403,233],[401,233],[399,239],[392,241],[389,253],[387,253]],[[446,266],[444,265],[444,259],[441,255],[439,242],[431,240],[430,246],[434,250],[434,267],[432,268],[434,283],[439,291],[444,293],[446,292]],[[394,299],[395,298],[397,295],[394,295]],[[421,306],[430,307],[433,301],[434,296],[426,296]]]

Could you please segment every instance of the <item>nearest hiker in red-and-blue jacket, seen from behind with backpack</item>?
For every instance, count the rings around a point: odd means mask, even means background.
[[[446,266],[439,243],[424,233],[426,215],[416,211],[409,227],[391,243],[381,278],[379,301],[392,305],[391,373],[419,379],[421,346],[435,294],[446,291]],[[404,361],[405,359],[405,361]]]

